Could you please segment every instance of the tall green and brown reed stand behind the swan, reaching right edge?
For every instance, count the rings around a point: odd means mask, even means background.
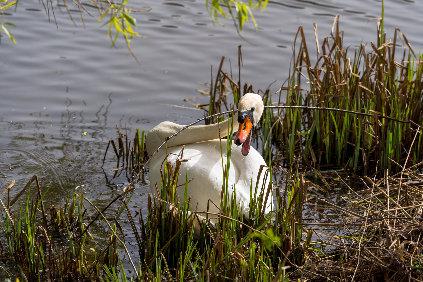
[[[398,41],[404,43],[402,58],[397,58],[399,62],[395,57]],[[282,163],[288,165],[298,154],[303,156],[303,164],[311,167],[335,165],[360,174],[375,171],[376,165],[378,173],[384,175],[386,170],[399,169],[395,162],[401,167],[418,164],[423,159],[423,137],[418,127],[423,124],[423,55],[414,53],[399,29],[392,40],[386,40],[379,24],[376,44],[371,42],[367,46],[372,52],[366,50],[365,44],[351,51],[351,47],[344,48],[342,43],[343,31],[339,29],[337,16],[330,37],[324,39],[318,49],[320,56],[312,65],[303,28],[299,27],[288,85],[282,85],[276,92],[277,101],[272,100],[275,95],[272,97],[269,89],[254,92],[248,82],[241,91],[240,82],[234,82],[232,74],[222,70],[225,60],[222,57],[215,81],[211,81],[205,115],[232,110],[229,95],[238,101],[250,92],[261,93],[267,106],[327,107],[371,114],[267,109],[258,123],[256,142],[261,142],[264,156],[270,145],[272,154],[278,154],[277,159],[285,160]],[[282,93],[286,93],[284,102]],[[411,120],[414,124],[396,120]],[[209,120],[214,122],[217,119]],[[413,142],[416,146],[412,146]]]

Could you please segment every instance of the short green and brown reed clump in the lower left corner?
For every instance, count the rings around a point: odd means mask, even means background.
[[[107,271],[116,268],[120,260],[117,247],[120,238],[115,240],[116,225],[108,233],[107,248],[97,253],[87,246],[88,241],[89,245],[96,244],[89,230],[82,234],[91,219],[84,199],[91,202],[84,196],[83,189],[78,193],[78,189],[85,185],[75,187],[73,196],[68,195],[64,208],[60,206],[57,209],[51,205],[50,218],[47,218],[43,199],[52,185],[42,194],[35,175],[13,200],[8,198],[7,206],[2,201],[0,238],[5,238],[2,241],[8,246],[8,259],[22,270],[22,281],[97,280],[101,268],[104,274],[108,274]],[[14,203],[25,193],[26,201],[20,203],[18,210],[12,210]],[[87,251],[94,252],[94,255],[87,256]]]

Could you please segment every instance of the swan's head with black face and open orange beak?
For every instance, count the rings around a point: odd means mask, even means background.
[[[238,122],[239,129],[233,142],[239,146],[242,144],[242,154],[248,155],[250,152],[253,131],[263,113],[263,100],[261,96],[254,93],[247,93],[239,99]]]

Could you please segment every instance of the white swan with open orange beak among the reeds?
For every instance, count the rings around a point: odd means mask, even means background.
[[[235,187],[236,190],[236,204],[239,205],[239,212],[245,217],[249,214],[250,204],[250,185],[253,180],[253,197],[256,187],[256,178],[261,165],[266,166],[263,157],[254,148],[250,148],[253,130],[257,125],[263,113],[263,101],[261,96],[248,93],[242,96],[238,104],[238,112],[219,124],[210,124],[203,126],[191,126],[184,131],[181,131],[177,136],[173,137],[167,142],[167,162],[170,162],[175,168],[175,162],[181,151],[182,145],[185,145],[183,151],[183,159],[190,159],[188,162],[181,163],[179,170],[179,181],[177,188],[181,200],[184,197],[184,183],[186,179],[186,172],[188,173],[188,180],[193,178],[188,183],[188,195],[192,196],[190,201],[190,210],[206,211],[208,200],[212,200],[220,207],[220,197],[223,183],[222,159],[226,163],[226,139],[219,140],[220,137],[225,137],[231,130],[232,120],[235,119],[239,123],[239,128],[236,129],[236,122],[233,122],[233,132],[238,131],[234,143],[231,148],[231,164],[229,169],[228,187],[231,189]],[[159,145],[166,140],[167,137],[174,134],[176,131],[184,127],[172,122],[162,122],[154,129],[152,129],[146,137],[146,146],[148,153],[153,153]],[[222,142],[222,153],[220,151],[220,141]],[[239,146],[241,145],[242,146]],[[160,168],[164,171],[166,158],[166,148],[161,148],[151,159],[149,169],[149,179],[151,186],[151,193],[157,195],[157,190],[154,183],[157,183],[160,191]],[[179,157],[181,159],[181,157]],[[261,173],[258,183],[257,195],[264,187],[264,195],[269,189],[269,179],[263,185],[265,167]],[[231,192],[229,192],[231,193]],[[230,195],[229,195],[230,196]],[[272,209],[272,196],[267,200],[265,213],[269,213]],[[209,203],[209,211],[216,212],[217,208],[212,203]],[[210,217],[210,216],[209,216]]]

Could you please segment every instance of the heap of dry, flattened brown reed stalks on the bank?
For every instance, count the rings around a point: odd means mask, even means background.
[[[423,174],[400,169],[381,179],[360,178],[367,189],[348,187],[346,206],[318,199],[340,223],[325,225],[333,229],[321,240],[324,254],[297,269],[302,281],[423,280]]]

